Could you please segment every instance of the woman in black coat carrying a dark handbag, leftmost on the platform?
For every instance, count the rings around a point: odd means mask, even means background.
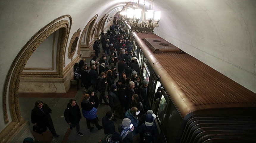
[[[51,134],[58,137],[60,135],[56,134],[50,113],[52,113],[52,110],[47,104],[44,104],[43,101],[40,100],[36,101],[35,107],[31,111],[31,123],[35,124],[44,131],[46,131],[46,127],[48,127]]]

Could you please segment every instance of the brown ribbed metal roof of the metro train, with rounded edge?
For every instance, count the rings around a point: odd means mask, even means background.
[[[152,33],[137,35],[141,44],[146,38],[160,38]],[[141,49],[183,117],[204,109],[256,107],[254,92],[205,63],[185,53],[154,53],[146,43]]]

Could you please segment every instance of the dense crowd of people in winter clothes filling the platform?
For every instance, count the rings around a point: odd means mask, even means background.
[[[102,57],[99,57],[100,43],[103,48]],[[156,128],[153,121],[156,116],[145,106],[149,97],[148,81],[142,81],[138,76],[138,59],[133,54],[132,43],[124,30],[124,24],[119,20],[116,23],[114,21],[110,30],[107,33],[102,32],[100,40],[96,39],[93,49],[95,56],[89,65],[85,59],[74,64],[77,90],[80,84],[85,87],[85,94],[81,110],[75,99],[70,99],[67,104],[64,117],[69,128],[72,130],[75,127],[77,134],[83,136],[79,131],[79,121],[83,115],[90,131],[94,128],[91,123],[98,130],[104,129],[106,136],[100,142],[133,142],[137,133],[140,134],[142,142],[154,142]],[[92,90],[89,90],[89,87]],[[102,126],[99,125],[96,114],[99,105],[110,106],[110,111],[102,118]],[[37,101],[31,113],[31,120],[45,130],[48,127],[57,137],[59,135],[55,132],[49,113],[51,109],[42,101]],[[117,130],[113,123],[115,118],[123,119]]]

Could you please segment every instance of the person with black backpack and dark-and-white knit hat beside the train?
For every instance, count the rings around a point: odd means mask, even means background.
[[[143,143],[150,143],[156,142],[156,126],[153,123],[153,116],[150,114],[146,115],[145,123],[141,126],[138,126],[137,131],[140,134],[141,142]]]

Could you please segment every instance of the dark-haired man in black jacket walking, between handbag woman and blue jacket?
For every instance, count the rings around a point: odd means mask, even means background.
[[[67,109],[64,112],[64,117],[66,122],[69,125],[69,128],[72,130],[73,127],[77,128],[77,134],[80,136],[83,136],[84,134],[82,134],[79,130],[80,130],[80,126],[79,126],[79,121],[82,118],[82,115],[80,113],[80,108],[77,105],[77,102],[75,99],[70,99],[69,103],[67,105]]]

